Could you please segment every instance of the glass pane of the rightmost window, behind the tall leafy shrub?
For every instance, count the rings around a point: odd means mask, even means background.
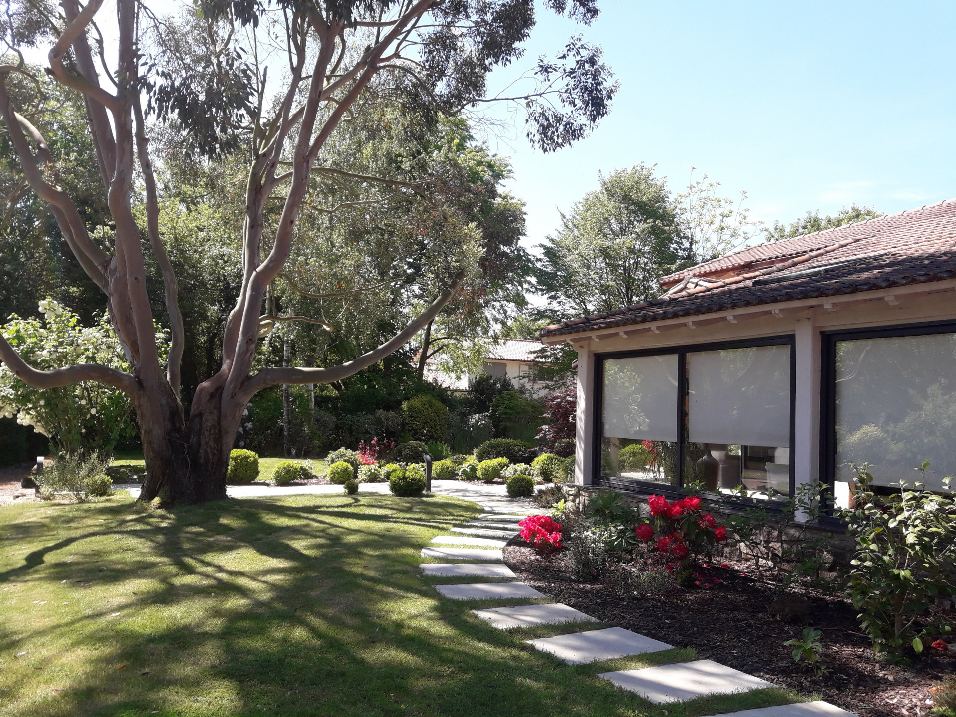
[[[956,474],[954,392],[954,334],[837,341],[836,480],[851,482],[849,463],[868,462],[876,486],[914,483],[929,461],[923,482],[942,490]],[[835,493],[847,507],[849,487]]]

